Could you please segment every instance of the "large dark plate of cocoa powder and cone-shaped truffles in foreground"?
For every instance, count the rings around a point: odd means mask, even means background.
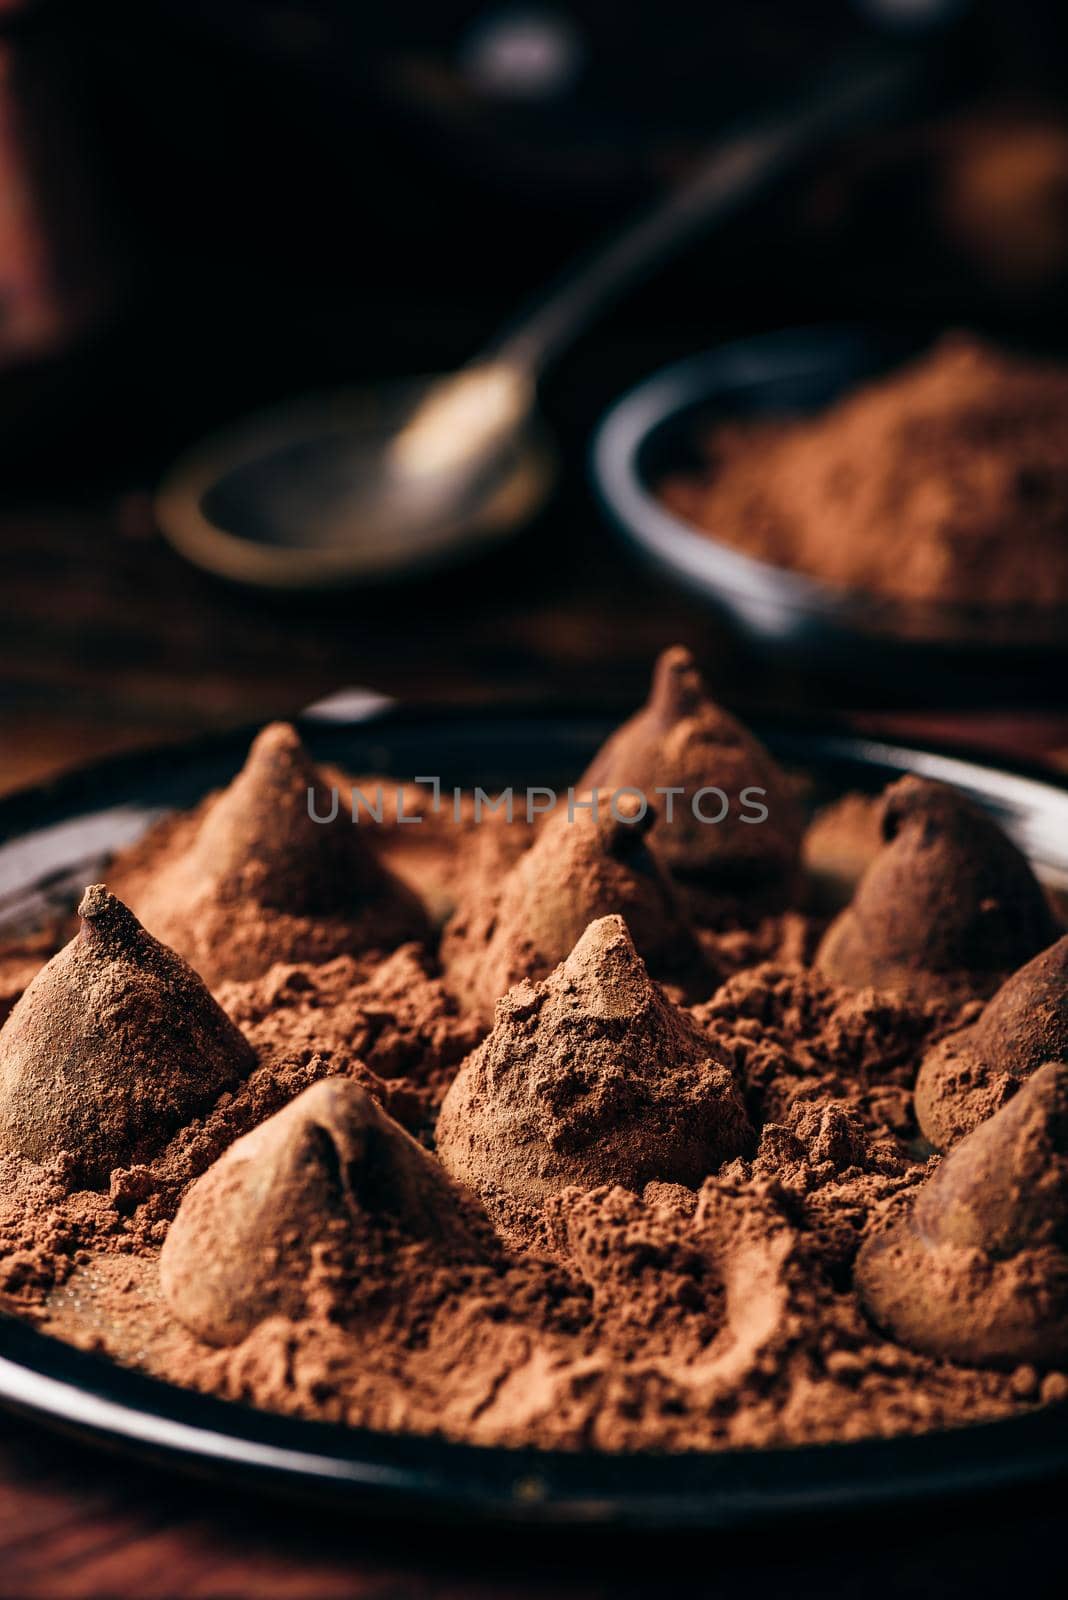
[[[1068,794],[392,710],[0,803],[0,1400],[382,1510],[1068,1470]]]

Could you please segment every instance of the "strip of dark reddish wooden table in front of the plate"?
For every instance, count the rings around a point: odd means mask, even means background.
[[[5,1600],[636,1600],[1063,1594],[1063,1483],[686,1539],[361,1520],[0,1419]]]

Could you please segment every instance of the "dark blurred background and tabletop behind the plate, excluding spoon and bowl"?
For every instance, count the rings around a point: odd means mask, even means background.
[[[211,426],[464,360],[732,118],[916,8],[942,61],[926,104],[820,152],[553,370],[566,474],[520,541],[433,582],[278,600],[195,573],[158,539],[149,491]],[[0,6],[0,784],[294,710],[341,683],[622,709],[673,638],[743,710],[929,701],[926,678],[857,682],[740,651],[620,554],[585,450],[624,386],[748,330],[873,318],[1063,346],[1062,13]],[[505,70],[520,24],[563,53],[537,91]],[[1022,688],[969,670],[934,698],[1044,712],[1060,694],[1049,672]]]

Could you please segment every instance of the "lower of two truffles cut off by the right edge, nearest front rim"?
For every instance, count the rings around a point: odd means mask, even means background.
[[[1068,1067],[1049,1062],[946,1155],[857,1258],[871,1318],[977,1366],[1068,1355]]]

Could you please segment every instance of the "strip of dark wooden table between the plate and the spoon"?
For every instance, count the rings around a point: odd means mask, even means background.
[[[745,712],[849,709],[868,726],[1042,757],[1068,749],[1063,683],[1001,694],[969,669],[932,694],[774,662],[625,558],[580,488],[476,566],[376,594],[272,597],[187,566],[147,498],[0,515],[0,794],[122,749],[285,717],[341,686],[430,704],[622,714],[676,642]],[[1033,691],[1033,693],[1031,693]]]

